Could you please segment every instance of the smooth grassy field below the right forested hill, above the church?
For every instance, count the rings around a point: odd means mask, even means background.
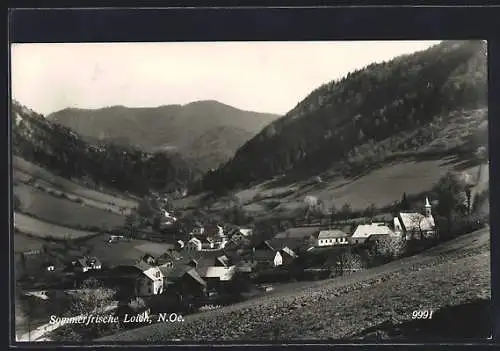
[[[275,181],[267,181],[234,193],[243,204],[244,210],[252,215],[280,216],[292,213],[303,206],[307,195],[324,201],[327,207],[333,203],[337,208],[348,203],[353,209],[365,209],[371,204],[381,208],[399,201],[403,193],[419,194],[428,191],[447,172],[467,172],[473,178],[479,174],[477,190],[484,190],[489,182],[489,169],[485,164],[468,166],[467,162],[455,156],[437,160],[407,159],[404,162],[384,165],[355,179],[331,177],[322,182],[298,182],[288,186],[275,186]],[[183,199],[182,206],[195,206],[199,197]],[[277,204],[272,210],[267,203]],[[222,209],[227,199],[222,198],[212,204],[212,210]],[[176,204],[177,205],[177,204]]]

